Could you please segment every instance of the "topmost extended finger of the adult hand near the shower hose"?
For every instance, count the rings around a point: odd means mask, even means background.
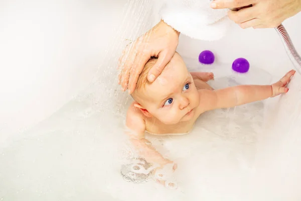
[[[215,0],[210,4],[213,9],[231,9],[255,4],[258,0]]]

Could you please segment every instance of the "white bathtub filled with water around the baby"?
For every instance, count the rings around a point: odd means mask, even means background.
[[[155,8],[155,9],[152,9]],[[202,115],[187,136],[147,136],[178,163],[178,189],[122,178],[124,114],[116,83],[126,45],[158,22],[156,2],[0,2],[0,200],[299,200],[300,96],[289,92]],[[298,14],[283,25],[301,52]],[[211,66],[201,51],[215,53]],[[273,29],[232,25],[220,41],[180,36],[191,70],[213,71],[215,87],[270,84],[293,68]],[[231,71],[245,57],[246,74]]]

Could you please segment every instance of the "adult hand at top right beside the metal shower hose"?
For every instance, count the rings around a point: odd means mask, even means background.
[[[231,9],[252,5],[239,11],[229,11],[230,20],[241,28],[274,28],[301,11],[300,0],[216,0],[213,9]]]

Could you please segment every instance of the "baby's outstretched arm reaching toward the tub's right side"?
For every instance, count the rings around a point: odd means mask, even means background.
[[[280,93],[285,93],[288,91],[285,85],[294,73],[294,70],[289,71],[278,82],[272,85],[239,85],[215,91],[207,89],[199,90],[201,113],[218,108],[230,108],[256,102],[274,97]]]

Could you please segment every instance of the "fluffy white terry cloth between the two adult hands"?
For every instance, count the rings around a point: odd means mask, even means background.
[[[160,10],[165,23],[191,38],[221,39],[230,26],[228,10],[210,8],[210,0],[166,0]]]

